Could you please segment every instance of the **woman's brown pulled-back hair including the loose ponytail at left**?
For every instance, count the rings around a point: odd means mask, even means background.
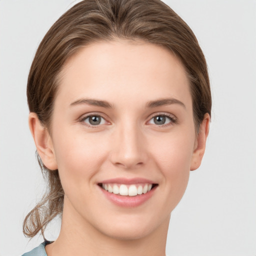
[[[204,114],[211,111],[207,65],[188,25],[160,0],[83,0],[66,11],[38,46],[27,81],[29,110],[50,132],[50,120],[65,61],[82,46],[115,38],[143,40],[168,48],[183,63],[190,80],[193,117],[198,131]],[[58,170],[37,159],[48,181],[41,201],[27,214],[23,233],[33,237],[62,212],[64,191]]]

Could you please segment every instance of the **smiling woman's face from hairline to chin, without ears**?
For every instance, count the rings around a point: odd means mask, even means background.
[[[150,43],[97,42],[60,77],[49,145],[65,192],[62,225],[121,239],[166,229],[197,160],[181,62]]]

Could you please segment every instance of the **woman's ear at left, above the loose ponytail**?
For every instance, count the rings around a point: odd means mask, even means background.
[[[43,164],[51,170],[57,169],[55,152],[51,137],[45,126],[42,125],[36,113],[30,112],[28,116],[30,132]]]

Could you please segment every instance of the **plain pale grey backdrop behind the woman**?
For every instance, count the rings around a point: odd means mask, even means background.
[[[44,188],[27,124],[26,79],[43,35],[75,2],[0,0],[0,256],[21,255],[43,240],[22,234]],[[205,156],[172,212],[166,252],[255,256],[256,1],[165,2],[197,36],[213,97]],[[46,238],[58,230],[59,219]]]

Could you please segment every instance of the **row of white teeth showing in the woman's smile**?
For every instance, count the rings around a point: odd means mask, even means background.
[[[120,195],[129,195],[129,196],[135,196],[137,194],[147,193],[151,190],[152,184],[144,184],[136,186],[135,184],[132,185],[125,185],[120,184],[119,186],[117,184],[102,184],[102,188],[108,191],[109,193],[114,194],[120,194]]]

